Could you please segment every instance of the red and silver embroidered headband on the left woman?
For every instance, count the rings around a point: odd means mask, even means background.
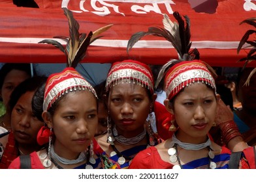
[[[65,68],[60,73],[50,75],[46,81],[44,90],[43,110],[48,110],[52,107],[52,104],[65,93],[72,92],[73,90],[76,91],[77,89],[88,89],[97,98],[93,86],[74,68]]]

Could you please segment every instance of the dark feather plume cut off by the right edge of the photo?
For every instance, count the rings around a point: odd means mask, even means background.
[[[256,18],[248,18],[248,19],[245,19],[244,21],[242,21],[240,23],[240,25],[242,23],[248,23],[249,25],[252,25],[253,27],[256,28]],[[238,48],[237,48],[237,53],[240,52],[240,50],[242,49],[243,45],[244,44],[249,44],[248,46],[246,47],[252,47],[252,49],[249,51],[247,57],[245,58],[242,58],[240,60],[238,60],[238,62],[241,62],[241,61],[245,61],[244,63],[244,66],[242,68],[242,70],[244,70],[244,68],[246,68],[247,64],[253,60],[256,60],[256,40],[252,40],[250,41],[249,40],[249,36],[251,34],[256,34],[256,30],[248,30],[246,31],[246,33],[244,34],[244,36],[242,37],[242,39],[240,40],[240,43],[238,45]],[[254,68],[251,73],[249,74],[248,76],[248,79],[246,80],[246,83],[244,83],[244,85],[249,85],[249,80],[251,79],[251,76],[256,72],[256,68]]]

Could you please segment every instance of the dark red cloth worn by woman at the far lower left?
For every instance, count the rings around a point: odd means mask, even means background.
[[[5,146],[5,151],[3,152],[3,156],[0,162],[0,169],[7,169],[10,165],[10,162],[12,162],[19,155],[20,154],[18,151],[18,147],[16,146],[16,140],[11,131],[8,136],[8,142]]]

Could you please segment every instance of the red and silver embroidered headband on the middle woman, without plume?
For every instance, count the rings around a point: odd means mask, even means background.
[[[153,74],[150,67],[136,60],[123,60],[122,62],[114,62],[108,72],[106,78],[106,92],[114,85],[123,83],[137,83],[150,90],[153,94]]]

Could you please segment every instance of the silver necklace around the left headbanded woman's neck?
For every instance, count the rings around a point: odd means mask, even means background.
[[[86,151],[82,151],[77,159],[69,160],[57,155],[57,153],[54,152],[54,145],[51,146],[50,156],[54,158],[57,162],[61,162],[61,164],[67,164],[67,165],[78,164],[80,162],[86,161]]]

